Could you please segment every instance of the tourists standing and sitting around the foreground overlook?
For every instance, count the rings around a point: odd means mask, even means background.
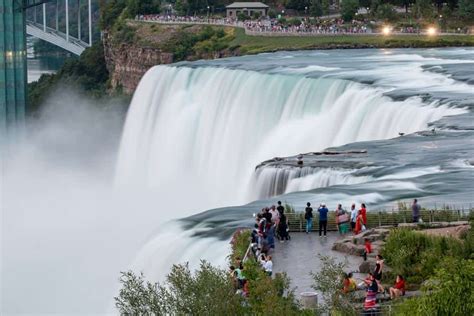
[[[272,256],[269,254],[275,249],[275,238],[284,243],[290,240],[288,218],[285,214],[285,207],[281,201],[278,206],[272,205],[269,208],[263,208],[260,213],[255,216],[254,229],[252,231],[252,252],[260,263],[261,268],[271,277],[273,274]],[[413,222],[420,220],[421,207],[415,199],[412,204]],[[305,219],[306,233],[309,234],[313,228],[314,210],[311,203],[306,204]],[[329,210],[325,203],[321,203],[317,209],[319,213],[319,236],[326,237]],[[335,210],[336,224],[340,234],[346,234],[352,231],[355,235],[367,229],[367,207],[365,203],[361,203],[360,208],[356,209],[356,204],[351,205],[351,210],[343,209],[342,204],[338,204]],[[372,253],[372,246],[368,238],[364,238],[365,251],[364,260],[367,260],[368,254]],[[352,273],[344,275],[342,282],[342,292],[349,293],[356,290],[365,290],[366,297],[364,301],[364,310],[371,311],[376,308],[377,294],[388,293],[391,299],[405,295],[405,280],[402,275],[397,275],[394,285],[386,291],[381,283],[382,272],[384,267],[383,257],[378,254],[375,257],[375,269],[369,273],[367,277],[357,284]],[[236,288],[242,295],[248,295],[248,282],[243,276],[242,261],[238,260],[236,266],[231,266],[231,276],[234,279]]]

